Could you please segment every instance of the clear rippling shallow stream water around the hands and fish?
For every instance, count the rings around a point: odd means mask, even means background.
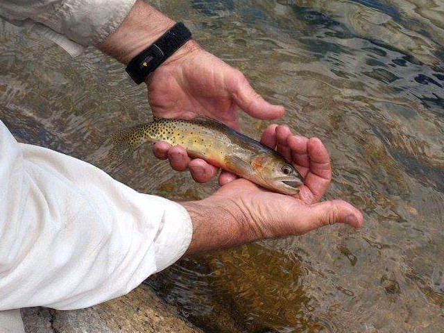
[[[183,259],[147,283],[206,332],[441,332],[444,327],[444,3],[152,1],[282,103],[330,149],[344,225]],[[0,117],[21,142],[106,168],[110,133],[151,118],[144,87],[89,50],[0,26]],[[242,116],[259,137],[264,121]],[[117,128],[119,126],[119,128]],[[142,148],[112,176],[176,200],[196,185]]]

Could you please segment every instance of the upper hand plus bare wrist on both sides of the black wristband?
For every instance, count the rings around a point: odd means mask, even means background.
[[[119,28],[98,47],[127,64],[175,22],[137,0]],[[189,40],[146,80],[148,101],[157,117],[190,119],[197,114],[237,128],[237,107],[257,119],[277,119],[284,108],[271,105],[250,86],[244,74]],[[189,169],[194,180],[207,182],[218,169],[192,160],[185,149],[158,142],[155,155],[169,159],[176,171]]]

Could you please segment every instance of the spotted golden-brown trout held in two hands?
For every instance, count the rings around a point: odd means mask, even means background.
[[[115,151],[133,152],[146,142],[164,141],[216,167],[281,194],[298,194],[303,178],[278,152],[224,123],[198,116],[191,120],[155,118],[112,136]]]

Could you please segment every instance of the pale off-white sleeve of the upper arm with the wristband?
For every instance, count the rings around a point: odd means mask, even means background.
[[[1,0],[0,17],[53,40],[76,56],[113,33],[136,0]]]

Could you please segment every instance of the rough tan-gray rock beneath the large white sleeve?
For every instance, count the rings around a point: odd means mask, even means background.
[[[33,307],[22,309],[22,318],[26,333],[202,333],[144,284],[95,307],[72,311]]]

